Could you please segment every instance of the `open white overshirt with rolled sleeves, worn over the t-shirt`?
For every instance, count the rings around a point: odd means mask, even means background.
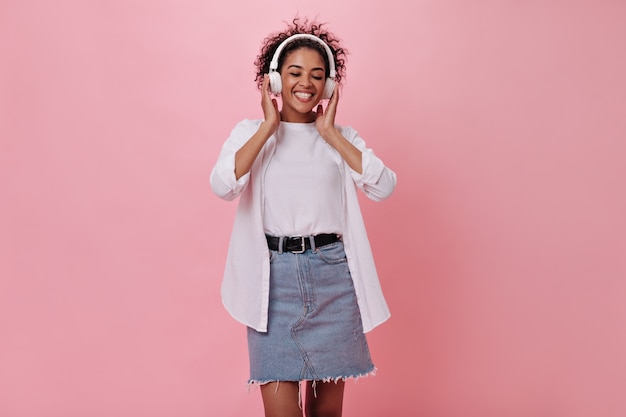
[[[211,171],[211,188],[224,200],[240,197],[230,237],[221,292],[226,310],[237,321],[259,332],[267,331],[270,264],[263,228],[263,176],[276,147],[270,137],[250,172],[235,179],[235,153],[259,129],[262,120],[242,120],[224,143]],[[389,308],[378,280],[372,250],[359,207],[356,188],[380,201],[393,192],[396,174],[366,147],[351,127],[338,127],[342,135],[362,152],[363,173],[339,166],[344,193],[343,242],[354,282],[363,331],[386,321]],[[342,160],[343,161],[343,160]],[[355,186],[356,185],[356,186]]]

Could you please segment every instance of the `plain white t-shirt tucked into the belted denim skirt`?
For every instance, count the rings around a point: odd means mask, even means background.
[[[338,156],[320,136],[315,123],[280,123],[276,150],[265,171],[266,233],[342,233]]]

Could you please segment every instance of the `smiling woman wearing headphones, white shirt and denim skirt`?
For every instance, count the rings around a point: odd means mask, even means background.
[[[211,172],[215,194],[240,198],[222,299],[248,328],[267,417],[302,415],[301,381],[307,416],[340,416],[345,380],[375,371],[364,333],[389,317],[357,189],[382,200],[396,175],[335,125],[345,55],[308,20],[266,38],[263,120],[239,122]]]

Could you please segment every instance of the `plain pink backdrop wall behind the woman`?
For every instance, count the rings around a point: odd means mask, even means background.
[[[345,416],[626,415],[626,3],[4,0],[0,416],[262,414],[208,175],[298,11],[399,177]]]

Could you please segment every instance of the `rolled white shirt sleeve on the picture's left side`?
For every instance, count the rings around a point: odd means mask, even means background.
[[[233,128],[213,166],[210,176],[213,193],[224,200],[234,200],[246,188],[250,181],[250,173],[235,178],[235,154],[252,137],[258,123],[243,120]]]

